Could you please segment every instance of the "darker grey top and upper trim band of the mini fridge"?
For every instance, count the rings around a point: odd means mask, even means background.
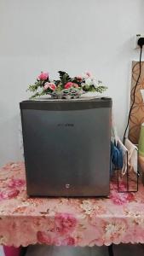
[[[27,100],[20,102],[20,109],[37,110],[78,110],[91,108],[112,108],[112,99],[109,97],[85,97],[71,100],[47,99]]]

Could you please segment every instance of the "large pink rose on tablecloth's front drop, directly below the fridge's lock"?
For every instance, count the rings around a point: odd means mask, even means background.
[[[70,213],[55,214],[55,229],[60,234],[66,234],[76,227],[77,220]]]

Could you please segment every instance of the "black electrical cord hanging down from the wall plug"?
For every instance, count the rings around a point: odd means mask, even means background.
[[[128,130],[128,127],[129,127],[130,114],[131,114],[131,111],[132,111],[132,109],[133,109],[133,107],[134,107],[134,104],[135,104],[135,90],[136,90],[137,84],[139,83],[139,79],[140,79],[140,77],[141,77],[141,55],[142,55],[142,46],[143,46],[143,44],[140,45],[140,47],[141,47],[141,51],[140,51],[140,61],[139,61],[140,72],[139,72],[138,78],[137,78],[136,83],[135,83],[135,86],[134,86],[134,93],[133,93],[134,98],[133,98],[133,102],[132,102],[131,107],[130,107],[130,111],[129,111],[129,115],[128,115],[128,122],[127,122],[127,125],[126,125],[126,128],[125,128],[125,131],[124,131],[123,143],[125,142],[125,138],[126,138],[125,135],[126,135],[126,132],[127,132],[127,130]]]

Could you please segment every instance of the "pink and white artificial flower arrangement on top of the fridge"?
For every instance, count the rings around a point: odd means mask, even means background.
[[[63,71],[58,73],[59,79],[55,80],[49,78],[49,73],[41,72],[35,84],[28,87],[29,91],[35,93],[31,98],[43,95],[51,95],[53,98],[78,98],[88,91],[102,93],[107,89],[100,80],[95,79],[89,72],[74,78]]]

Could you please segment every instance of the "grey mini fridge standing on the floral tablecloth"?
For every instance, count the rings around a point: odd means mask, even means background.
[[[112,99],[20,102],[27,194],[107,196]]]

